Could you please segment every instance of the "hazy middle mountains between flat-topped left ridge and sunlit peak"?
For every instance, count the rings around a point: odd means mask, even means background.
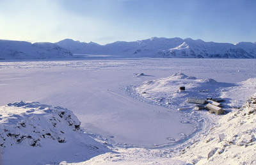
[[[56,44],[69,49],[74,54],[102,54],[102,55],[118,55],[127,57],[154,57],[157,52],[176,47],[181,44],[181,38],[156,38],[152,37],[147,40],[139,40],[136,42],[113,42],[106,45],[97,43],[84,43],[65,39]]]

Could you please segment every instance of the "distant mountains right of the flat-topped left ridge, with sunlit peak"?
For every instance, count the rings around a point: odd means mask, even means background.
[[[65,39],[56,43],[72,53],[157,58],[256,58],[256,43],[216,43],[191,38],[157,38],[106,45]]]

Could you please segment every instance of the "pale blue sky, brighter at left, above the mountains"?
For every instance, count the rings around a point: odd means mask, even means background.
[[[0,39],[256,42],[255,0],[0,0]]]

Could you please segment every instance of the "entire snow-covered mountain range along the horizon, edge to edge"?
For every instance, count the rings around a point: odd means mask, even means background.
[[[106,45],[79,42],[24,42],[0,40],[0,59],[74,58],[73,54],[113,55],[131,58],[256,58],[256,42],[218,43],[191,38],[152,37]]]

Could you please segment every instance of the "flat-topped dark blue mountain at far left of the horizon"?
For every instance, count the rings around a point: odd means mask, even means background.
[[[47,59],[70,58],[67,49],[49,42],[20,42],[0,40],[0,59]]]

